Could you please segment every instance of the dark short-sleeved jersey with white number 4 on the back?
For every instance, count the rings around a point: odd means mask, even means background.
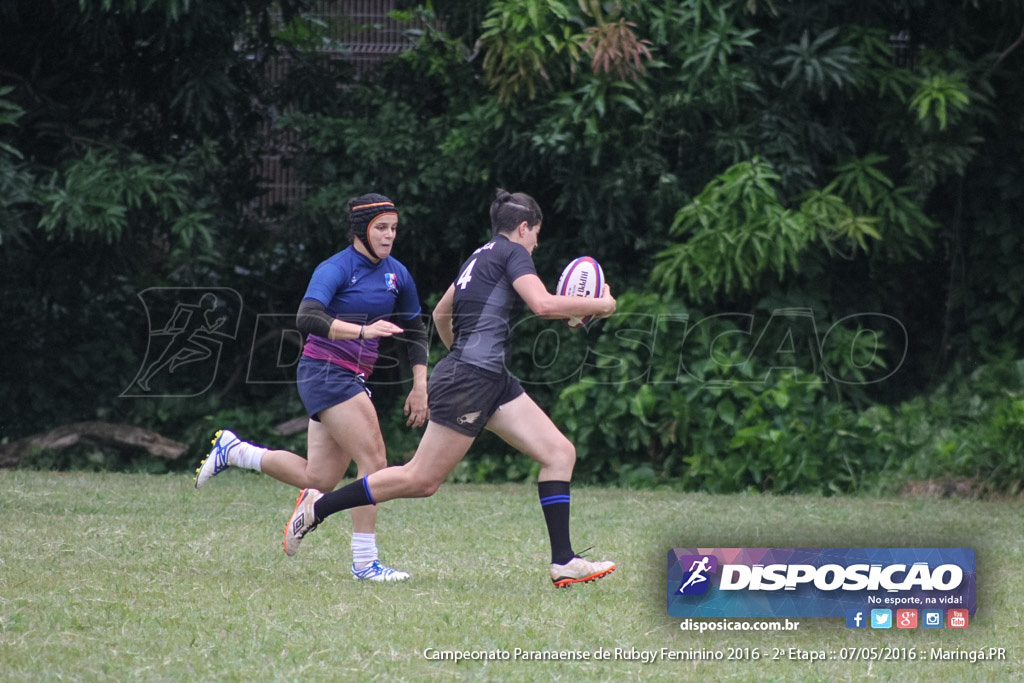
[[[453,357],[505,371],[511,353],[510,321],[523,305],[512,283],[529,273],[537,273],[529,252],[503,234],[466,259],[455,281]]]

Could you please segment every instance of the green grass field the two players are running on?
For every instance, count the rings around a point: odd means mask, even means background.
[[[281,550],[293,490],[231,471],[0,471],[0,679],[48,680],[1024,680],[1024,505],[963,500],[714,497],[573,490],[578,550],[607,579],[556,591],[532,485],[445,485],[382,508],[384,559],[404,584],[354,582],[338,515]],[[680,630],[666,612],[674,547],[971,547],[978,612],[965,631]],[[854,647],[1004,647],[1005,661],[790,658]],[[425,650],[611,653],[603,661],[433,660]],[[755,648],[760,660],[649,664],[614,649]],[[781,653],[778,659],[773,654]]]

